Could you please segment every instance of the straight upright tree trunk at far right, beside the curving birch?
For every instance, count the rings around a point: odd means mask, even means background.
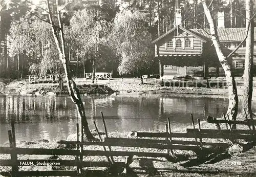
[[[246,48],[245,48],[245,69],[244,69],[244,94],[243,94],[243,104],[242,104],[242,115],[243,118],[247,116],[248,119],[252,118],[251,110],[251,99],[252,99],[252,69],[253,69],[253,41],[254,41],[254,24],[253,24],[253,2],[252,0],[245,1],[245,11],[246,11],[246,29],[248,29],[248,36],[246,38]]]

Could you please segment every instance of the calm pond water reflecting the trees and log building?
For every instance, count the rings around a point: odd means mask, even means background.
[[[188,125],[191,113],[201,120],[207,115],[220,117],[228,105],[226,98],[173,94],[83,96],[82,99],[86,102],[90,128],[94,128],[93,121],[96,121],[98,128],[103,130],[102,111],[109,131],[120,132],[164,129],[167,117],[172,126]],[[15,121],[17,141],[66,140],[76,132],[76,123],[80,122],[68,96],[1,96],[0,145],[8,141],[11,120]]]

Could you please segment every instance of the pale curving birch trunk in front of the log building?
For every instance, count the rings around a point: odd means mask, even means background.
[[[217,29],[214,24],[214,20],[212,19],[210,10],[208,9],[208,6],[206,5],[206,1],[205,0],[202,1],[202,4],[203,4],[205,16],[206,16],[209,26],[210,26],[212,43],[215,46],[216,53],[218,55],[218,58],[220,60],[220,63],[222,65],[222,68],[224,69],[225,75],[226,75],[228,95],[229,95],[227,117],[230,120],[236,120],[237,114],[238,114],[238,94],[237,94],[236,81],[234,80],[234,77],[232,76],[230,64],[228,63],[227,58],[224,56],[224,54],[222,52]]]

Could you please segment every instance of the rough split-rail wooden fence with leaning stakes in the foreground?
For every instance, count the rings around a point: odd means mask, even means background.
[[[10,147],[0,147],[0,154],[10,154],[11,159],[1,159],[0,166],[11,166],[11,171],[1,172],[5,176],[79,176],[84,175],[83,167],[121,167],[127,168],[132,162],[133,156],[139,157],[155,157],[166,158],[170,160],[169,154],[174,154],[174,150],[194,151],[198,156],[200,154],[212,153],[214,148],[212,146],[229,147],[232,143],[210,142],[209,139],[245,139],[250,141],[256,140],[255,129],[201,129],[200,119],[198,119],[198,128],[195,127],[193,115],[191,120],[193,128],[186,129],[186,132],[172,132],[170,128],[170,120],[167,119],[165,132],[138,132],[132,131],[130,138],[111,138],[108,137],[108,131],[101,112],[102,121],[105,130],[106,138],[103,140],[99,134],[96,123],[94,122],[99,142],[83,142],[79,141],[79,125],[77,124],[77,141],[59,141],[60,144],[75,145],[76,149],[47,149],[47,148],[18,148],[16,147],[15,128],[14,123],[11,123],[12,130],[8,131]],[[221,122],[220,120],[218,120]],[[223,120],[222,120],[223,121]],[[251,125],[255,125],[255,121]],[[216,123],[216,122],[215,122]],[[232,122],[228,121],[230,125]],[[243,124],[235,122],[236,124]],[[81,132],[82,133],[82,132]],[[151,139],[154,138],[154,139]],[[160,139],[157,139],[160,138]],[[182,138],[176,140],[175,138]],[[188,140],[186,140],[188,138]],[[191,138],[194,141],[191,141]],[[84,149],[84,147],[93,146],[92,148]],[[95,147],[103,147],[103,150],[94,150]],[[107,148],[108,147],[108,148]],[[119,148],[117,148],[119,147]],[[120,148],[121,147],[121,148]],[[136,150],[131,150],[129,147],[137,147]],[[141,150],[143,148],[143,150]],[[146,150],[145,148],[155,149],[155,151]],[[145,151],[146,150],[146,151]],[[161,152],[159,152],[161,150]],[[17,158],[17,154],[50,154],[57,156],[75,156],[75,160],[46,160],[46,159],[30,159],[22,160]],[[88,156],[102,156],[106,157],[106,161],[84,161],[84,157]],[[115,162],[113,157],[129,157],[124,162]],[[174,160],[172,160],[174,161]],[[52,170],[52,171],[19,171],[18,166],[23,162],[30,162],[32,164],[43,162],[60,163],[60,165],[74,166],[76,170]],[[174,161],[175,162],[175,161]],[[116,169],[116,168],[115,168]]]

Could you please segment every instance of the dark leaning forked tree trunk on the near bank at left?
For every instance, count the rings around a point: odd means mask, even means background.
[[[88,126],[88,122],[87,122],[87,118],[86,118],[86,112],[84,110],[84,106],[79,94],[79,90],[76,86],[75,81],[72,79],[71,77],[71,72],[70,72],[70,67],[68,65],[68,59],[66,57],[65,54],[65,38],[64,38],[64,34],[63,34],[63,28],[62,28],[62,22],[61,22],[61,17],[60,17],[60,11],[58,10],[58,1],[56,2],[57,4],[57,19],[58,19],[58,28],[56,28],[56,26],[53,23],[53,18],[52,18],[52,12],[51,12],[51,8],[49,5],[49,0],[46,0],[47,3],[47,9],[48,9],[48,16],[49,16],[49,20],[50,20],[50,24],[51,24],[51,29],[52,29],[52,33],[53,33],[53,37],[56,43],[56,47],[58,49],[59,52],[59,58],[63,64],[63,68],[65,71],[65,77],[66,80],[68,82],[68,90],[69,90],[69,95],[71,97],[71,100],[76,104],[76,108],[77,108],[77,112],[81,118],[81,126],[83,131],[82,132],[82,139],[83,139],[83,132],[84,135],[86,136],[86,138],[88,140],[93,140],[94,137],[89,129]]]

